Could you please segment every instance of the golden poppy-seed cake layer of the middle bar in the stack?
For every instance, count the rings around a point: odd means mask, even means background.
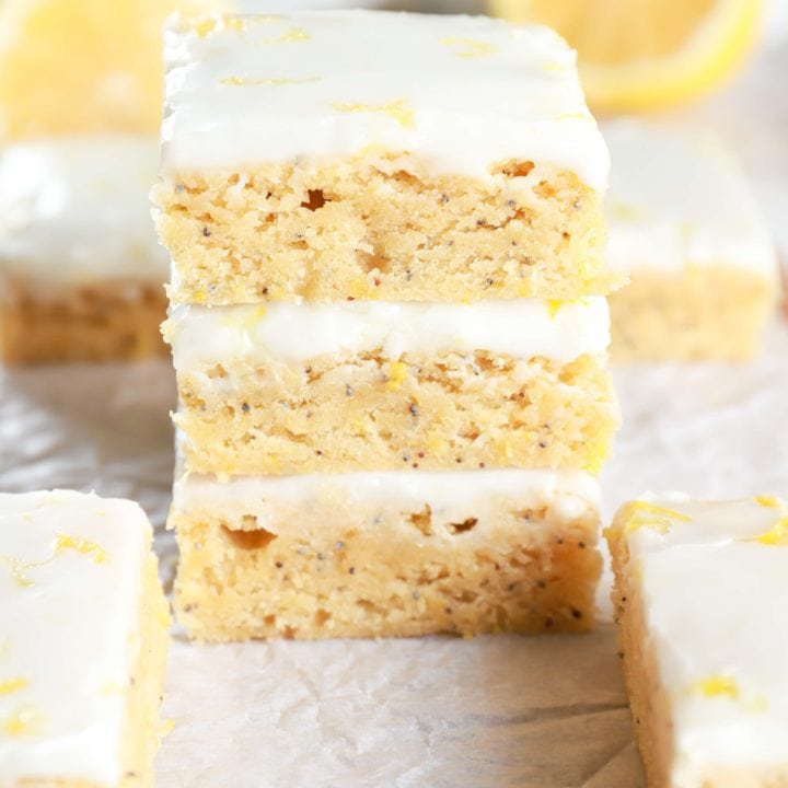
[[[199,473],[476,467],[599,473],[618,425],[604,358],[485,351],[270,360],[178,373],[186,467]]]

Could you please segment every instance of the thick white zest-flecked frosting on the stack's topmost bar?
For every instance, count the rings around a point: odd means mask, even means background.
[[[553,31],[381,11],[227,16],[166,34],[164,170],[408,152],[489,177],[517,159],[606,183],[575,53]]]

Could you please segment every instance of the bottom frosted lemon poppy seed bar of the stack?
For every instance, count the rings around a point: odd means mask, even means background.
[[[201,640],[581,631],[599,487],[579,472],[186,474],[171,525]]]

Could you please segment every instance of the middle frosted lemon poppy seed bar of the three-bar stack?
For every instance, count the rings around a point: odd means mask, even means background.
[[[176,306],[198,473],[583,468],[618,425],[603,298]]]

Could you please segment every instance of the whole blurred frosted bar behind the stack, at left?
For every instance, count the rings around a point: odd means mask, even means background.
[[[0,152],[0,359],[162,355],[169,258],[148,192],[153,137],[85,135]]]

